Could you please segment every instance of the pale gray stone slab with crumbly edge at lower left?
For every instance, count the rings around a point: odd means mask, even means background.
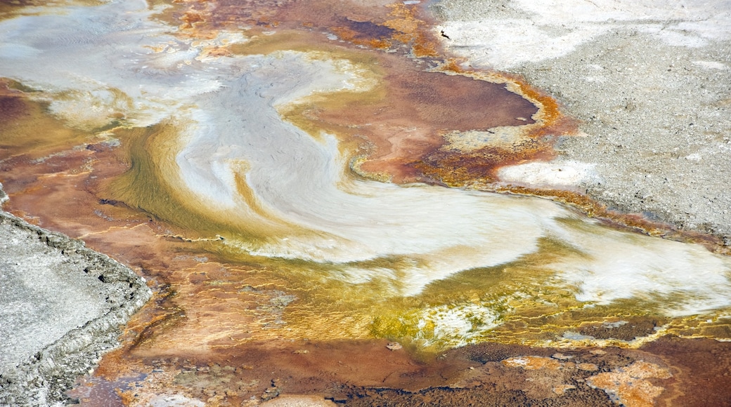
[[[0,212],[0,406],[64,403],[150,295],[83,242]]]

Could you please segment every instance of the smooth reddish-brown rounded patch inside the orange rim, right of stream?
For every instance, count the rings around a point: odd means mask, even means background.
[[[489,160],[480,152],[442,152],[444,133],[532,123],[517,117],[534,115],[533,104],[501,84],[419,71],[408,60],[381,59],[387,70],[382,101],[363,104],[357,100],[311,115],[320,125],[338,125],[341,131],[374,144],[360,170],[389,174],[392,182],[445,182],[444,177],[456,174],[455,170],[467,171],[474,179],[489,174],[488,166],[511,162],[505,154]],[[525,150],[519,154],[529,157]],[[458,163],[448,163],[450,159]]]

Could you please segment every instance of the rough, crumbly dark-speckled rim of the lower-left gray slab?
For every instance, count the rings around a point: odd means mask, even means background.
[[[4,201],[7,201],[7,194],[0,185],[0,204]],[[69,330],[15,369],[0,374],[0,406],[74,403],[75,400],[64,393],[78,376],[94,368],[102,354],[119,345],[121,325],[151,298],[152,292],[145,279],[107,255],[88,249],[82,241],[31,225],[1,210],[0,228],[16,228],[28,235],[37,235],[39,241],[57,249],[62,255],[83,259],[84,264],[93,266],[99,273],[100,281],[115,284],[115,289],[124,290],[125,297],[129,298],[129,301],[110,306],[110,310],[101,317]],[[83,273],[85,270],[81,267],[78,271]]]

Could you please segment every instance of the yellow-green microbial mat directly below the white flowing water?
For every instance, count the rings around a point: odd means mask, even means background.
[[[211,245],[219,243],[211,242]],[[222,245],[221,245],[222,246]],[[683,292],[631,298],[606,305],[577,301],[578,288],[567,286],[542,265],[575,249],[543,239],[540,249],[515,262],[461,271],[428,284],[418,295],[398,295],[398,270],[408,259],[322,264],[267,260],[229,252],[233,263],[256,263],[284,279],[295,301],[284,308],[287,322],[270,334],[284,338],[365,338],[400,341],[422,352],[499,341],[537,346],[640,346],[668,333],[731,338],[730,309],[705,317],[667,317],[664,304],[682,301]],[[218,249],[221,249],[219,247]],[[218,255],[224,252],[209,247]],[[382,270],[360,283],[347,269]]]

